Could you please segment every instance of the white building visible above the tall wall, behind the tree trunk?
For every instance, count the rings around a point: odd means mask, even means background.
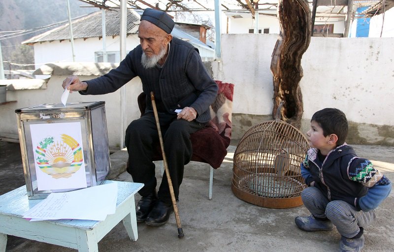
[[[336,3],[338,5],[323,5]],[[348,13],[348,2],[344,0],[317,1],[317,9],[315,15],[313,36],[324,37],[342,37],[345,32],[345,23]],[[382,37],[393,37],[394,34],[394,9],[392,1],[385,2],[383,8],[383,0],[355,0],[353,2],[352,14],[350,19],[350,35],[356,37],[360,33],[358,23],[365,21],[369,28],[368,32],[363,36],[380,37],[383,23],[383,11],[385,11],[385,20]],[[310,10],[312,12],[313,5],[310,1]],[[362,9],[361,13],[358,11]],[[279,20],[277,17],[277,7],[273,1],[264,1],[259,3],[259,9],[254,9],[255,17],[249,10],[225,11],[227,16],[227,24],[222,29],[223,33],[279,33]],[[312,15],[312,13],[311,13]]]

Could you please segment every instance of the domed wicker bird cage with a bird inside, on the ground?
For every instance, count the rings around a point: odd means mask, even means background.
[[[296,127],[280,120],[281,105],[275,120],[253,126],[243,135],[233,158],[235,196],[268,208],[302,205],[300,195],[306,188],[300,163],[308,141]]]

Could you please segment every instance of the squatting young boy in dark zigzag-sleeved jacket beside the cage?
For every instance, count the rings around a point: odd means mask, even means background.
[[[348,122],[335,108],[316,112],[306,133],[311,149],[301,163],[309,186],[301,192],[308,217],[296,217],[304,231],[331,230],[341,234],[340,251],[358,252],[364,245],[363,228],[375,220],[377,208],[390,194],[391,182],[372,163],[356,156],[345,143]]]

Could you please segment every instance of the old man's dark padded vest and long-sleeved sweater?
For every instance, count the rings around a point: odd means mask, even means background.
[[[132,78],[139,76],[143,92],[147,96],[147,110],[152,110],[150,92],[155,94],[158,110],[175,113],[175,109],[193,107],[197,122],[210,120],[209,105],[215,100],[218,87],[206,71],[198,50],[190,43],[172,38],[171,48],[162,68],[145,69],[141,64],[142,49],[138,45],[120,65],[107,74],[86,81],[88,90],[83,95],[102,95],[121,88]],[[136,98],[136,97],[135,97]]]

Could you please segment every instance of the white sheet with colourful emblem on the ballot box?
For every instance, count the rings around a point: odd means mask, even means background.
[[[39,191],[87,187],[80,122],[31,124],[34,170],[32,184]]]

